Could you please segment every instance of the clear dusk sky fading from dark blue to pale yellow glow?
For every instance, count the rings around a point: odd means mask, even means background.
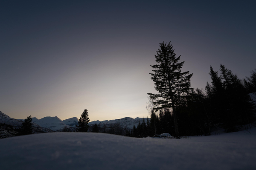
[[[0,111],[11,118],[147,117],[159,43],[170,42],[191,85],[209,67],[256,68],[256,1],[0,1]]]

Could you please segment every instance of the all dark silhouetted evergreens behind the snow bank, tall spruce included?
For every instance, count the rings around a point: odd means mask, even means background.
[[[182,72],[184,64],[179,62],[170,43],[160,43],[155,55],[156,63],[150,73],[157,94],[148,93],[146,109],[150,118],[143,118],[137,127],[124,128],[120,124],[89,126],[87,109],[79,118],[76,131],[102,132],[132,137],[147,137],[169,133],[175,138],[188,135],[211,135],[219,127],[226,132],[239,128],[251,128],[256,121],[256,106],[251,102],[249,93],[256,92],[256,69],[250,77],[243,80],[220,65],[220,70],[209,68],[211,82],[205,90],[191,87],[193,74]],[[23,124],[23,134],[30,134],[32,118]]]

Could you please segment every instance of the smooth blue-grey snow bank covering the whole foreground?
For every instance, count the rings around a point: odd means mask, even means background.
[[[252,133],[252,134],[250,134]],[[186,139],[41,133],[0,140],[1,170],[255,170],[256,129]]]

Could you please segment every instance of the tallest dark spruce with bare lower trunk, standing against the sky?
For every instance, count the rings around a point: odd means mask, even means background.
[[[178,63],[180,56],[176,57],[170,43],[160,43],[160,49],[156,51],[157,64],[152,66],[154,73],[150,73],[150,75],[159,94],[148,93],[148,95],[157,99],[155,102],[158,105],[157,109],[172,108],[175,138],[180,138],[175,107],[179,104],[181,98],[186,97],[191,91],[190,78],[192,74],[189,74],[189,71],[181,72],[184,61]]]

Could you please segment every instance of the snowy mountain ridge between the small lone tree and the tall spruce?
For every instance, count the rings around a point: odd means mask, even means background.
[[[147,118],[144,118],[145,121]],[[120,119],[115,119],[115,120],[105,120],[105,121],[91,121],[88,124],[99,124],[99,125],[109,125],[109,124],[115,124],[115,123],[119,123],[122,127],[124,128],[128,128],[128,129],[132,129],[132,127],[135,125],[136,127],[140,123],[142,123],[143,118],[130,118],[130,117],[126,117],[126,118],[120,118]]]

